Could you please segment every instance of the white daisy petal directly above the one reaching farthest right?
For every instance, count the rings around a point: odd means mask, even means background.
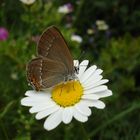
[[[98,86],[98,87],[95,87],[95,88],[85,90],[84,94],[97,93],[97,92],[101,92],[101,91],[105,91],[105,90],[107,90],[107,86],[103,85],[103,86]]]

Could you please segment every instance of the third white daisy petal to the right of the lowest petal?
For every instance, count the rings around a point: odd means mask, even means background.
[[[91,109],[82,102],[77,103],[75,109],[85,116],[91,115]]]

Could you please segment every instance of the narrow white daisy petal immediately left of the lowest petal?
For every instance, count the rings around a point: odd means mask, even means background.
[[[43,118],[49,116],[50,114],[52,114],[52,113],[58,111],[59,109],[60,109],[60,107],[59,107],[58,105],[52,106],[52,107],[47,108],[47,109],[45,109],[45,110],[43,110],[43,111],[41,111],[41,112],[38,112],[38,113],[36,114],[35,118],[36,118],[37,120],[43,119]]]

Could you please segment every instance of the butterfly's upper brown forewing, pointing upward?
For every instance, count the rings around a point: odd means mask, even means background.
[[[42,34],[38,43],[38,55],[59,61],[66,66],[68,74],[74,73],[73,59],[67,43],[55,26],[49,27]]]

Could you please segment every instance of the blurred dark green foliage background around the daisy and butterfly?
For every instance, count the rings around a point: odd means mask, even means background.
[[[139,0],[36,0],[31,5],[1,0],[0,30],[6,33],[3,39],[0,31],[0,139],[85,140],[75,120],[48,132],[44,120],[35,120],[20,105],[31,89],[26,64],[50,25],[61,30],[74,59],[89,59],[110,80],[113,96],[103,99],[106,108],[93,108],[84,124],[91,140],[140,140]]]

